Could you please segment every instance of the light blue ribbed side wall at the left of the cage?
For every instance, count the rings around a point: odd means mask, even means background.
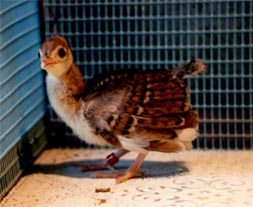
[[[22,172],[20,158],[29,152],[35,156],[45,144],[41,140],[26,140],[36,149],[25,151],[21,144],[45,113],[43,77],[37,57],[38,14],[36,1],[0,1],[0,200]],[[43,127],[39,124],[40,131],[32,132],[37,140]]]

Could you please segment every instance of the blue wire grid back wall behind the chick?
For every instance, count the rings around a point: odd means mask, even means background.
[[[69,39],[85,78],[203,59],[209,73],[189,80],[195,146],[253,148],[253,1],[47,0],[44,15],[46,36]]]

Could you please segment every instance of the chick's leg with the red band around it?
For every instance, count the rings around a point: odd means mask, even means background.
[[[103,161],[85,163],[82,166],[82,172],[105,170],[105,169],[116,171],[113,166],[119,161],[119,159],[122,156],[124,156],[128,152],[129,151],[125,149],[119,149],[115,153],[111,153],[110,155],[108,155],[106,159]]]

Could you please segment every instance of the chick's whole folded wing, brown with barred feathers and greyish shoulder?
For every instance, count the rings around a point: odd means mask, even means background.
[[[89,97],[86,118],[114,144],[120,136],[138,136],[149,140],[150,148],[161,148],[159,141],[176,139],[178,131],[198,125],[189,89],[173,71],[111,76]]]

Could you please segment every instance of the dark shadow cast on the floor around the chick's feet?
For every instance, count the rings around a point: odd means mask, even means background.
[[[101,160],[62,162],[57,164],[34,164],[25,175],[34,173],[55,174],[75,178],[90,178],[92,172],[82,172],[82,165],[94,163]],[[115,168],[120,171],[127,170],[133,160],[121,160]],[[145,161],[141,167],[145,177],[168,177],[189,172],[183,162],[156,162]],[[103,170],[110,173],[110,170]]]

